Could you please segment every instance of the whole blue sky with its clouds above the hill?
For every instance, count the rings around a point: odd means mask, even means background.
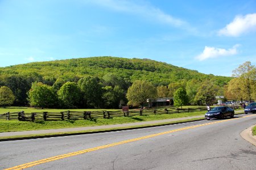
[[[256,0],[0,0],[0,67],[94,56],[231,76],[256,65]]]

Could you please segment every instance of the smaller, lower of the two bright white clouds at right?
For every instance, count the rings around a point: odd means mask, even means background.
[[[205,46],[203,53],[196,57],[199,61],[203,61],[208,58],[217,58],[223,56],[232,56],[238,53],[237,48],[239,44],[234,45],[230,49],[215,48],[211,46]]]

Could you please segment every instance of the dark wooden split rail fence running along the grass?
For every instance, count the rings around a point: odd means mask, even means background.
[[[92,120],[97,118],[145,116],[150,114],[171,114],[183,112],[205,111],[206,108],[168,108],[168,109],[141,109],[129,112],[122,111],[64,111],[64,112],[7,112],[0,114],[0,120],[19,121],[61,121],[61,120]]]

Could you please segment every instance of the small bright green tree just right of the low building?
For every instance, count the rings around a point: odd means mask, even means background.
[[[188,96],[187,92],[184,90],[184,88],[180,87],[174,92],[174,105],[177,107],[186,105],[188,103]]]

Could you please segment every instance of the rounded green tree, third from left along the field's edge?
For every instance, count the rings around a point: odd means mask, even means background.
[[[81,91],[76,83],[67,82],[58,91],[61,107],[76,108],[79,105]]]

